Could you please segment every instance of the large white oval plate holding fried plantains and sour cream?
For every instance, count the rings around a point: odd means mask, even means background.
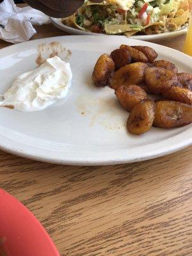
[[[192,125],[129,134],[128,113],[114,91],[92,84],[97,58],[120,44],[148,45],[156,49],[159,59],[173,61],[180,72],[192,72],[191,57],[161,45],[116,36],[61,36],[12,45],[0,51],[0,93],[16,76],[36,67],[39,44],[53,41],[72,51],[74,77],[68,97],[63,104],[33,113],[0,108],[0,148],[51,163],[99,165],[152,159],[192,144]]]

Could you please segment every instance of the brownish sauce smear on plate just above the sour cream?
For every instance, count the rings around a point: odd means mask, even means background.
[[[51,42],[49,44],[40,44],[37,48],[38,54],[36,57],[36,64],[38,66],[42,65],[48,58],[58,56],[61,60],[68,62],[72,52],[66,49],[59,42]]]

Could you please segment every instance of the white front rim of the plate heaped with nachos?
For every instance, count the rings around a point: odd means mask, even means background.
[[[52,18],[50,17],[52,24],[54,24],[54,26],[56,26],[57,28],[67,32],[68,34],[71,35],[102,35],[102,36],[111,36],[111,35],[104,35],[104,34],[98,34],[98,33],[92,33],[92,32],[88,32],[88,31],[83,31],[80,29],[76,29],[76,28],[71,28],[68,27],[66,25],[64,25],[61,22],[61,19],[56,19],[56,18]],[[143,41],[150,41],[150,40],[162,40],[162,39],[166,39],[166,38],[172,38],[175,36],[180,36],[183,35],[187,32],[187,28],[182,28],[179,29],[177,31],[173,31],[173,32],[166,32],[166,33],[162,33],[162,34],[156,34],[156,35],[136,35],[136,36],[130,36],[129,38],[131,39],[138,39],[138,40],[143,40]],[[118,36],[118,35],[116,35]],[[120,38],[122,37],[126,37],[123,35],[120,35]]]

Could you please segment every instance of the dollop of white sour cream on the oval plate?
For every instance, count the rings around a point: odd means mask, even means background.
[[[45,109],[67,95],[71,80],[70,64],[54,56],[40,67],[18,76],[1,95],[0,106],[12,106],[19,111]]]

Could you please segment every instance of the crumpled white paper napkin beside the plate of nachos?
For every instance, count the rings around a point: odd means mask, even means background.
[[[49,23],[49,17],[29,6],[19,8],[13,0],[0,4],[0,39],[17,44],[28,41],[36,30],[32,25]]]

